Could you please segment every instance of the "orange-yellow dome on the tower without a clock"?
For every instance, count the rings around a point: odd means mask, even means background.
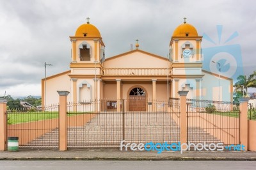
[[[92,24],[83,24],[79,26],[76,30],[76,36],[101,37],[99,29]]]

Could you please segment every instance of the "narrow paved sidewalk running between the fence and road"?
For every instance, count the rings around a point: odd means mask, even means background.
[[[83,150],[0,151],[0,160],[256,160],[256,151],[120,151],[86,148]]]

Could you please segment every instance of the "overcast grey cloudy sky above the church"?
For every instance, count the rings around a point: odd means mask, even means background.
[[[237,64],[248,75],[256,70],[255,5],[254,0],[0,0],[0,96],[40,96],[44,62],[52,64],[47,76],[69,70],[69,36],[87,17],[100,31],[106,58],[129,51],[137,38],[141,50],[167,57],[172,33],[186,17],[199,35],[215,42],[203,39],[203,48],[239,45]],[[216,26],[222,26],[221,40]]]

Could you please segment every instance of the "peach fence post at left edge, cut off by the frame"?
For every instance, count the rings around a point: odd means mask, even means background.
[[[7,100],[0,97],[0,151],[5,151],[7,148]]]

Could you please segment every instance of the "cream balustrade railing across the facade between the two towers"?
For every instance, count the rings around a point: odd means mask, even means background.
[[[103,75],[170,75],[169,68],[103,68]]]

